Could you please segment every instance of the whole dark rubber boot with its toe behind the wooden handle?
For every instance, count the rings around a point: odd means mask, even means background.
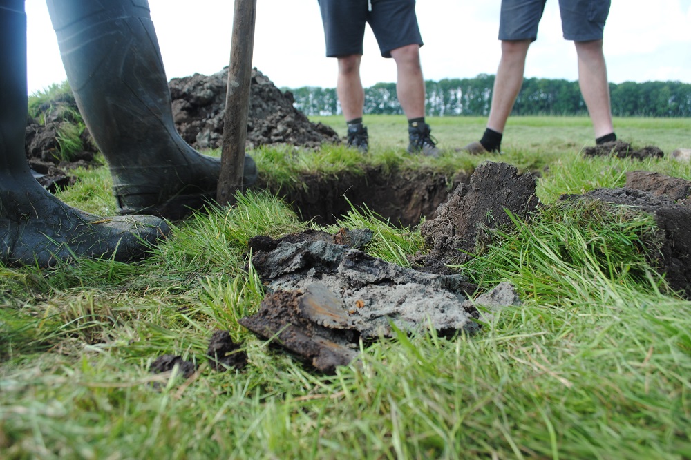
[[[220,159],[201,155],[176,131],[148,1],[48,0],[48,11],[120,213],[179,219],[214,200]],[[244,185],[256,175],[245,155]]]

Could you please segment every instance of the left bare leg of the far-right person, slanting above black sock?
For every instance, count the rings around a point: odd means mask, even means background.
[[[492,91],[492,105],[489,109],[487,127],[503,133],[507,119],[523,84],[525,58],[530,40],[502,40],[502,59]]]

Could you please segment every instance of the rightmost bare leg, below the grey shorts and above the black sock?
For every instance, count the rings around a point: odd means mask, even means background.
[[[613,133],[603,41],[575,41],[574,44],[576,44],[578,54],[580,93],[583,94],[583,100],[593,122],[595,137]]]

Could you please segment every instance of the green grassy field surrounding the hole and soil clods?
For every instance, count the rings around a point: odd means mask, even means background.
[[[343,135],[340,117],[314,118]],[[80,260],[55,269],[0,265],[0,458],[393,459],[691,458],[691,303],[648,265],[650,217],[562,193],[622,186],[646,169],[691,180],[691,165],[585,159],[586,118],[516,117],[500,157],[454,148],[477,140],[480,118],[430,119],[446,153],[404,153],[402,117],[366,117],[372,152],[342,147],[252,152],[269,181],[337,174],[364,163],[471,171],[482,161],[542,171],[540,219],[495,236],[459,267],[482,287],[508,280],[523,300],[479,334],[398,336],[363,349],[335,376],[316,374],[238,325],[263,298],[243,270],[247,239],[312,227],[254,191],[232,209],[176,222],[144,262]],[[691,147],[690,119],[616,119],[618,137],[670,153]],[[105,168],[59,197],[115,212]],[[341,222],[375,229],[368,251],[404,264],[419,229],[358,210]],[[334,231],[337,227],[327,229]],[[392,250],[395,249],[395,250]],[[242,371],[211,370],[214,329],[243,343]],[[202,363],[188,379],[152,374],[178,354]]]

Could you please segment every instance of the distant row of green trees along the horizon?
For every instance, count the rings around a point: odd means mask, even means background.
[[[494,75],[425,82],[430,116],[489,115]],[[286,88],[283,88],[284,90]],[[294,106],[306,115],[341,113],[335,88],[304,86],[289,89]],[[623,82],[609,84],[612,114],[618,117],[691,117],[691,84],[682,82]],[[365,90],[365,113],[400,115],[395,83],[377,83]],[[527,78],[513,115],[587,115],[578,82]]]

